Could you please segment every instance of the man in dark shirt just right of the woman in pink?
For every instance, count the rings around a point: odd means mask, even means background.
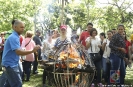
[[[41,32],[37,30],[36,36],[33,37],[33,40],[36,45],[42,46],[41,39],[39,37],[40,35],[41,35]],[[37,71],[38,61],[37,60],[41,60],[41,49],[39,49],[34,55],[35,55],[35,61],[33,62],[33,74],[37,74],[38,73]]]

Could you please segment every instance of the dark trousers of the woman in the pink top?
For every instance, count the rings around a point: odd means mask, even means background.
[[[24,62],[22,62],[22,65],[23,65],[22,80],[24,80],[25,74],[26,74],[26,80],[29,80],[30,79],[31,63],[32,62],[30,62],[30,61],[24,61]]]

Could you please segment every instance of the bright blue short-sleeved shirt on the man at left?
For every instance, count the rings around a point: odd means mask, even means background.
[[[16,54],[16,49],[20,49],[20,41],[18,33],[16,31],[13,31],[13,33],[7,38],[4,44],[2,66],[18,66],[19,55]]]

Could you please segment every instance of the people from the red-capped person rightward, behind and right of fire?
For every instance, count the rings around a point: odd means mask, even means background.
[[[61,26],[60,37],[58,37],[56,42],[51,46],[49,42],[52,42],[52,37],[50,36],[45,42],[50,48],[46,50],[46,45],[44,44],[44,52],[49,53],[47,51],[59,48],[62,43],[67,43],[69,41],[82,45],[83,49],[90,55],[96,67],[96,74],[91,87],[95,87],[95,83],[97,83],[99,87],[104,87],[102,80],[104,80],[104,84],[106,85],[111,86],[111,84],[117,83],[117,85],[124,87],[126,67],[127,65],[131,65],[133,60],[133,35],[131,35],[131,41],[129,41],[124,25],[120,24],[117,26],[117,29],[109,30],[107,33],[100,33],[100,36],[97,36],[98,31],[93,28],[92,23],[88,23],[87,30],[83,31],[79,36],[72,35],[71,38],[67,38],[66,33],[67,26]],[[48,54],[45,55],[44,53],[43,55],[45,58],[48,57]],[[93,59],[94,57],[95,59]],[[111,72],[113,73],[111,74]],[[113,78],[114,74],[117,75],[116,80]],[[45,84],[45,71],[43,77],[43,84]]]

